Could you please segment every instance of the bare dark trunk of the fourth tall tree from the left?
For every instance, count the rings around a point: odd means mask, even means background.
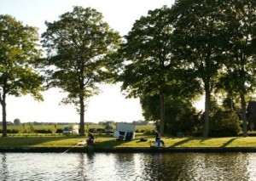
[[[205,121],[204,121],[203,134],[202,134],[203,137],[208,137],[209,135],[210,100],[211,100],[211,93],[209,88],[206,88]]]

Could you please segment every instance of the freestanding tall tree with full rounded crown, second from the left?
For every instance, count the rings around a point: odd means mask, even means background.
[[[97,83],[105,80],[105,64],[119,45],[119,33],[102,20],[93,8],[74,7],[60,20],[46,22],[43,45],[48,52],[49,85],[68,93],[63,103],[78,106],[80,135],[84,135],[85,99],[98,92]],[[51,67],[51,66],[49,66]]]

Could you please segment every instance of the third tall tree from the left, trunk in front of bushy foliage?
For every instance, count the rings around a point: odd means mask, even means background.
[[[165,98],[171,91],[176,61],[172,59],[172,25],[166,6],[148,11],[125,36],[119,53],[125,70],[121,75],[122,89],[128,97],[159,95],[160,134],[165,128]]]

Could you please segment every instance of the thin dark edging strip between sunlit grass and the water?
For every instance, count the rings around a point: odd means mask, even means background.
[[[0,153],[254,153],[255,147],[23,147],[0,148]]]

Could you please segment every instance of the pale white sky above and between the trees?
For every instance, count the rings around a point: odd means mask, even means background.
[[[174,0],[0,0],[0,14],[9,14],[23,25],[38,27],[41,35],[46,31],[45,21],[59,20],[59,16],[73,11],[73,6],[96,8],[110,27],[121,36],[131,31],[132,25],[148,10],[172,6]],[[90,98],[84,122],[133,122],[144,120],[139,99],[125,99],[121,84],[102,85],[102,93]],[[13,122],[79,122],[73,105],[60,105],[66,93],[51,88],[43,93],[44,102],[26,95],[7,98],[7,120]],[[2,113],[2,112],[1,112]]]

